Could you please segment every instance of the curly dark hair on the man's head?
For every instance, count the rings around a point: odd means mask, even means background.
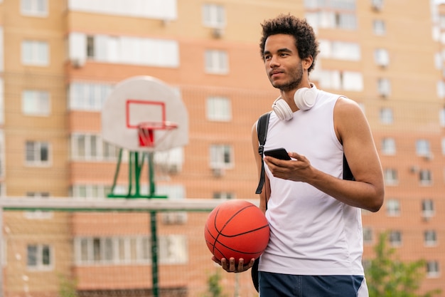
[[[298,19],[290,14],[280,14],[274,19],[264,21],[261,26],[262,37],[259,48],[262,58],[264,58],[264,44],[267,37],[275,34],[289,34],[295,38],[295,46],[301,59],[312,56],[313,63],[308,69],[308,73],[311,72],[319,51],[313,28],[306,22],[306,19]]]

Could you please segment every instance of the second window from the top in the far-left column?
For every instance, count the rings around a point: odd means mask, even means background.
[[[44,41],[22,41],[21,62],[23,63],[23,65],[48,66],[48,43]]]

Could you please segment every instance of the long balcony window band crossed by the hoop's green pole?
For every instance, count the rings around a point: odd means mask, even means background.
[[[159,236],[159,263],[185,264],[188,261],[187,239],[184,235]],[[113,265],[151,263],[150,236],[76,237],[77,265]]]

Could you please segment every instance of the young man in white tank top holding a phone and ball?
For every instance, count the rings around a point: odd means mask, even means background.
[[[259,261],[260,296],[368,296],[360,209],[377,212],[384,199],[368,121],[353,100],[309,82],[318,43],[306,21],[290,15],[264,21],[260,48],[269,80],[280,90],[264,150],[284,147],[291,157],[264,157],[259,197],[271,235]],[[260,172],[258,145],[255,123],[252,146]],[[354,180],[343,179],[343,154]],[[229,272],[254,262],[235,266],[234,260],[217,262]]]

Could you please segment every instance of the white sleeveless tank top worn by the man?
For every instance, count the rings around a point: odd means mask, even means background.
[[[264,150],[284,147],[308,157],[318,170],[342,178],[343,147],[333,108],[339,95],[317,90],[316,104],[291,120],[269,119]],[[265,164],[264,164],[265,165]],[[339,202],[310,184],[273,177],[266,217],[270,241],[260,271],[294,275],[363,275],[360,209]]]

